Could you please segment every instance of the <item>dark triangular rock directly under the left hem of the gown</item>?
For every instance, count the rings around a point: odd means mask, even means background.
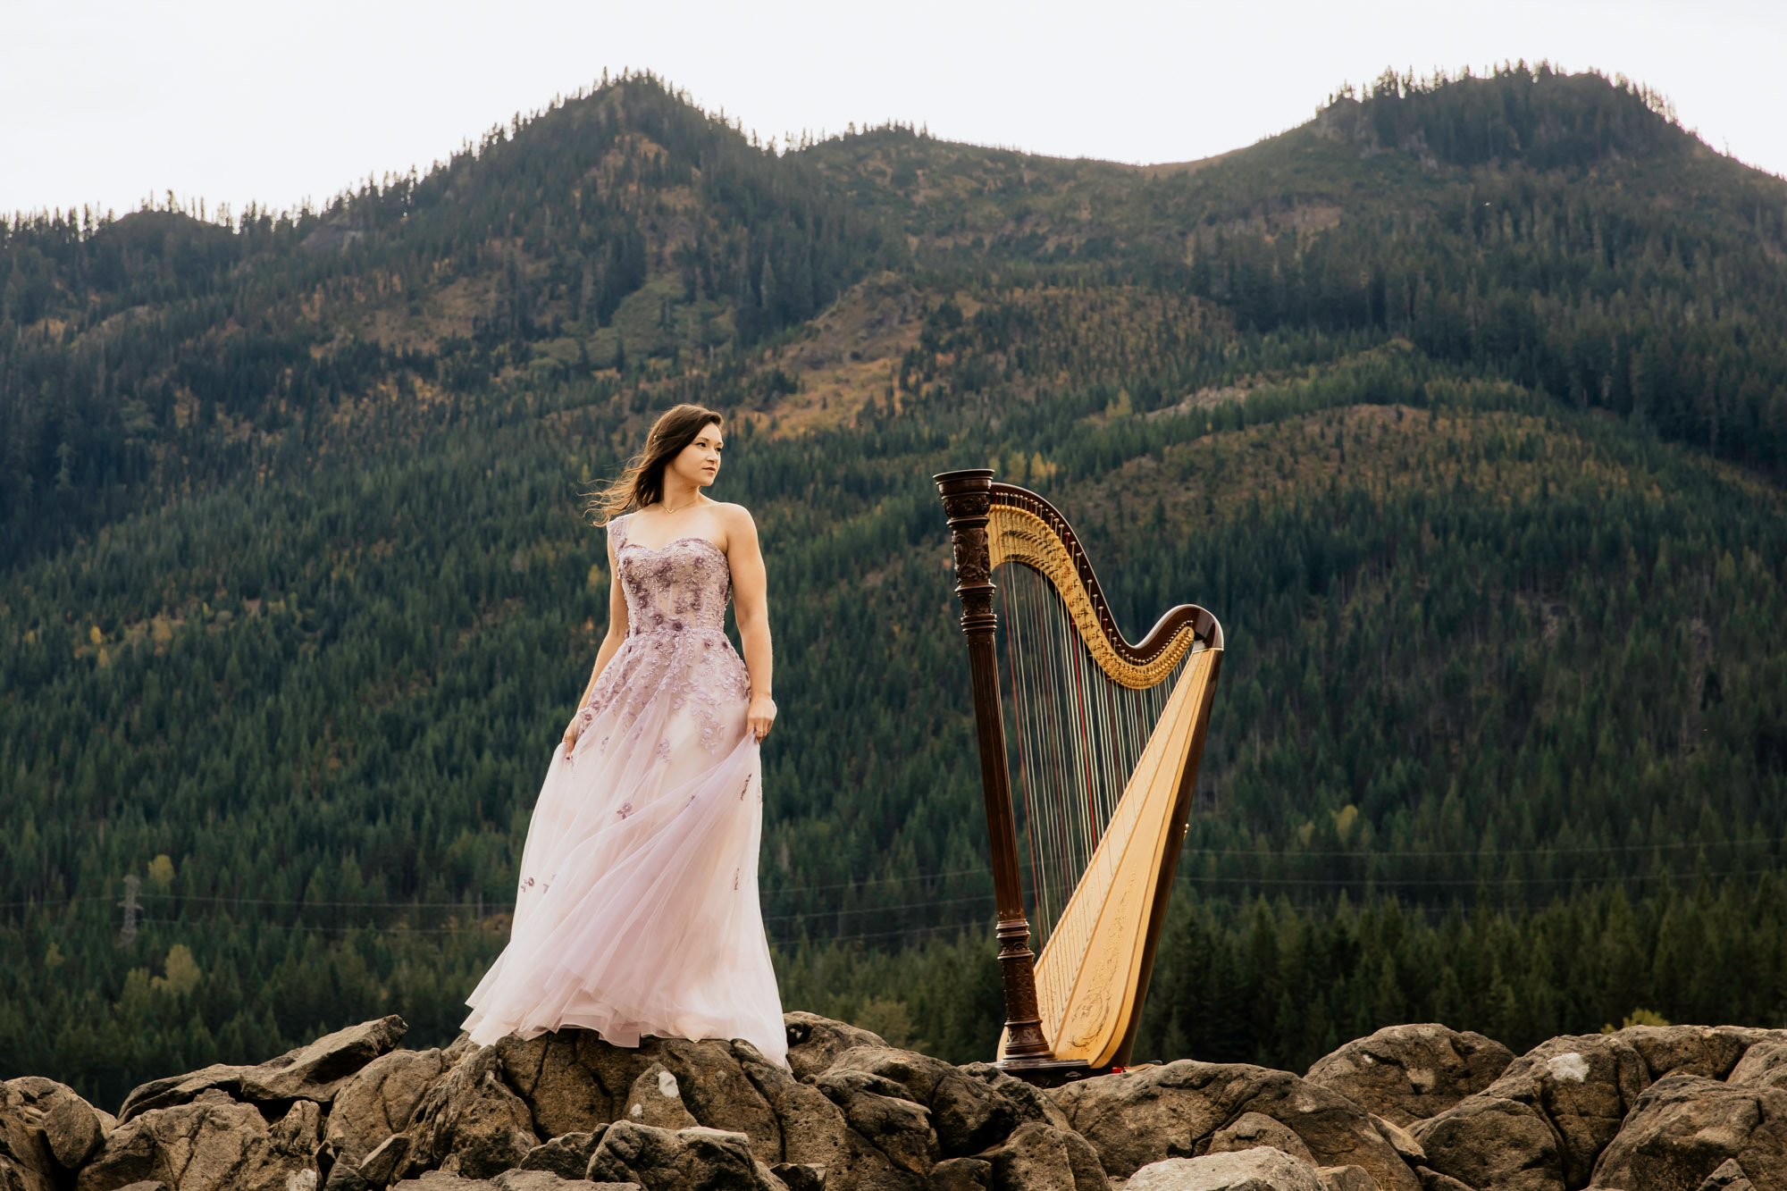
[[[400,1177],[443,1170],[488,1178],[522,1164],[540,1145],[540,1136],[527,1105],[509,1091],[500,1073],[500,1055],[493,1046],[482,1046],[466,1053],[422,1094],[406,1127],[411,1141],[399,1166]]]

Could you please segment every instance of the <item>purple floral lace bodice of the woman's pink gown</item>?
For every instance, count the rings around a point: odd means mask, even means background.
[[[709,753],[731,748],[751,697],[751,676],[726,637],[733,570],[706,538],[675,538],[659,547],[627,540],[629,517],[609,522],[615,565],[627,601],[627,638],[590,690],[586,722],[615,708],[615,730],[629,730],[649,706],[692,715]],[[667,730],[668,731],[668,730]],[[608,748],[604,739],[600,748]],[[670,735],[658,740],[668,760]]]

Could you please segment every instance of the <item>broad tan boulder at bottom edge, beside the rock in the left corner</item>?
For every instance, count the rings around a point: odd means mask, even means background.
[[[322,1109],[295,1102],[272,1127],[222,1089],[191,1103],[148,1109],[105,1137],[75,1178],[77,1191],[159,1180],[168,1191],[288,1191],[316,1187]]]

